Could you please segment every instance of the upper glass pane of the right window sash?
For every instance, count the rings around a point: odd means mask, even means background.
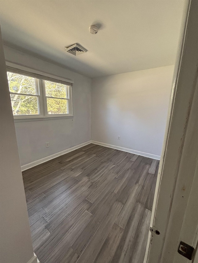
[[[45,80],[45,94],[49,97],[67,98],[66,85]]]

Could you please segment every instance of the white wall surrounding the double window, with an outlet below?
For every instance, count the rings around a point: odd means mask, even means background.
[[[91,79],[11,47],[4,49],[6,61],[74,81],[73,119],[15,122],[21,166],[90,141]]]

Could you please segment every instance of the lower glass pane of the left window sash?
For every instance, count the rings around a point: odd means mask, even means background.
[[[11,103],[15,116],[39,114],[37,97],[11,94]]]

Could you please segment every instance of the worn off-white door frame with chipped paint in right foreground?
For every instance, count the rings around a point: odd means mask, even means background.
[[[194,248],[197,243],[197,0],[189,2],[186,13],[151,216],[157,232],[149,233],[145,263],[192,262],[177,250],[180,241]]]

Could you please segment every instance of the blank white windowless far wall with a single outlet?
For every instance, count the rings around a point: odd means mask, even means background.
[[[92,140],[160,158],[173,70],[167,66],[93,79]]]

